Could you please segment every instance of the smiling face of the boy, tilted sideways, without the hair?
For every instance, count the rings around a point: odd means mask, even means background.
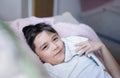
[[[34,44],[43,62],[55,65],[64,61],[64,44],[57,33],[43,31],[36,36]]]

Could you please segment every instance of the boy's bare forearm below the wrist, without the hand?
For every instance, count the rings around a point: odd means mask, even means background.
[[[113,78],[120,78],[120,67],[110,51],[106,48],[105,45],[102,45],[101,52],[103,55],[103,61],[105,67],[108,69]]]

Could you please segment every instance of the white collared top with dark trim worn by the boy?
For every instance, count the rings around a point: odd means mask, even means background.
[[[103,64],[94,56],[79,56],[75,52],[75,43],[87,41],[87,38],[70,36],[62,39],[65,44],[64,63],[52,66],[45,63],[47,71],[52,78],[112,78],[104,71]]]

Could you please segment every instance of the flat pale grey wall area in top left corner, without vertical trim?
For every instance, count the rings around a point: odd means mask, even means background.
[[[0,17],[14,20],[21,17],[21,0],[0,0]]]

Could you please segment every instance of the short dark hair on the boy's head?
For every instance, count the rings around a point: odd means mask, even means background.
[[[34,39],[42,31],[57,33],[49,24],[45,24],[45,23],[38,23],[36,25],[28,25],[22,29],[22,32],[24,33],[24,36],[26,38],[28,45],[34,52],[35,52],[35,45],[33,43]]]

